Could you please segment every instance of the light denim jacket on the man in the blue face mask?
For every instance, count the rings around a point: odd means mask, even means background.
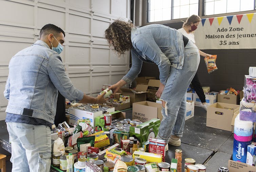
[[[12,57],[4,91],[5,112],[53,124],[58,91],[71,101],[84,96],[71,83],[59,54],[45,42],[39,40]]]

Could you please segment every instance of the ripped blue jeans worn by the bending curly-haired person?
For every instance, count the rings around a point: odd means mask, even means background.
[[[171,67],[170,76],[160,98],[166,104],[165,108],[162,107],[163,119],[157,138],[165,140],[166,143],[171,135],[182,137],[186,116],[186,91],[199,65],[199,51],[191,41],[186,45],[184,55],[182,69]]]

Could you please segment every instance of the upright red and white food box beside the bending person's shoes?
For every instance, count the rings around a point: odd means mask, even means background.
[[[165,162],[165,140],[149,139],[148,151],[163,155],[162,161]]]

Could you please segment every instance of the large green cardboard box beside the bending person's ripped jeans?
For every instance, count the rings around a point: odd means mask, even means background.
[[[130,126],[130,137],[137,138],[140,143],[148,141],[150,138],[155,138],[158,134],[160,119],[151,119],[136,127]],[[142,145],[140,145],[141,147]]]

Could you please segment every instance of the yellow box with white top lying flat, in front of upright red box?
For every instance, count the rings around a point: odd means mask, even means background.
[[[134,153],[132,154],[133,159],[144,158],[146,159],[147,163],[154,163],[154,162],[161,163],[162,156],[163,155],[161,154],[141,152],[141,151],[134,151]]]

